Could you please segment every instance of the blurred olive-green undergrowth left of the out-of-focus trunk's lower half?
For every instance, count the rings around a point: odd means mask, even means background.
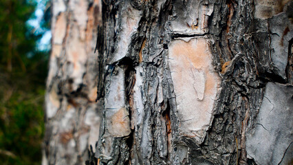
[[[0,148],[13,156],[0,154],[2,164],[39,164],[41,161],[44,92],[43,87],[36,91],[13,87],[6,90],[1,99]]]

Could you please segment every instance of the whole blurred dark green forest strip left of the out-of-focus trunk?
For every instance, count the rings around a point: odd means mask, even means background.
[[[50,27],[50,8],[42,30],[28,23],[40,2],[0,0],[0,164],[41,164],[49,50],[36,45]]]

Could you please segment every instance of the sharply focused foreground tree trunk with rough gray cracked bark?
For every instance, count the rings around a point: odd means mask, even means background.
[[[102,1],[87,163],[290,164],[292,6]]]

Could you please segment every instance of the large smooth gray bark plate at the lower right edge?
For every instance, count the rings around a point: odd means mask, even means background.
[[[255,128],[246,136],[248,156],[257,164],[279,164],[292,143],[292,94],[292,86],[266,85]]]

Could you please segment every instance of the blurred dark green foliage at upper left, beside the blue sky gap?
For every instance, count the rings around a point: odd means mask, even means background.
[[[32,16],[35,5],[26,0],[0,0],[0,63],[9,72],[14,66],[25,71],[23,54],[34,50],[36,39],[40,37],[29,32],[25,24]]]

